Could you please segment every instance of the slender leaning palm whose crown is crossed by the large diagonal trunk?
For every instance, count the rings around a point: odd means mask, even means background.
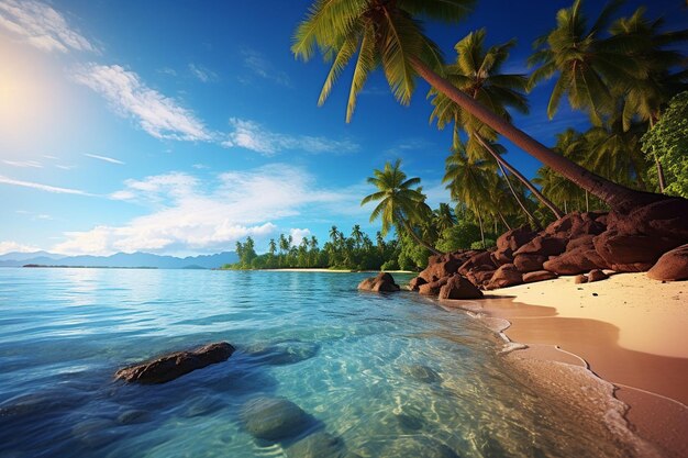
[[[478,100],[493,113],[511,122],[509,108],[521,113],[528,113],[529,111],[524,93],[528,87],[528,78],[523,75],[502,74],[500,71],[515,41],[512,40],[486,49],[486,30],[480,29],[477,32],[469,33],[459,41],[454,46],[457,54],[456,62],[445,66],[445,75],[458,89]],[[498,134],[492,129],[434,88],[430,89],[428,97],[432,98],[432,104],[434,105],[430,121],[436,120],[439,129],[444,129],[445,125],[454,123],[454,143],[458,139],[458,130],[464,130],[469,137],[466,145],[469,156],[482,157],[486,153],[491,155],[498,163],[514,199],[532,221],[535,221],[533,215],[530,214],[519,196],[514,192],[504,168],[520,179],[543,204],[552,210],[556,217],[562,217],[561,210],[550,202],[537,188],[500,155],[498,148],[493,145]],[[501,149],[504,150],[503,148]]]

